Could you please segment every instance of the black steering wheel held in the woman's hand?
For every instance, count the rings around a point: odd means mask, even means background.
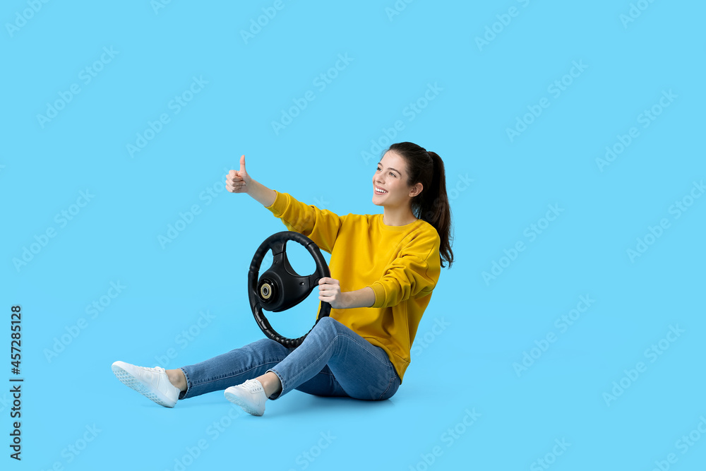
[[[309,254],[316,261],[316,271],[309,276],[301,276],[294,271],[289,261],[287,260],[287,241],[298,242],[303,245]],[[265,273],[261,276],[260,266],[268,251],[272,251],[273,263]],[[250,263],[250,271],[248,273],[248,297],[250,299],[250,307],[253,310],[255,321],[260,326],[261,330],[268,338],[280,342],[285,347],[299,347],[301,342],[304,342],[306,335],[299,338],[286,338],[278,334],[272,328],[270,322],[263,314],[265,311],[280,312],[296,306],[304,301],[309,296],[311,290],[318,286],[318,280],[330,276],[328,264],[326,263],[321,251],[313,240],[306,237],[304,234],[293,231],[277,232],[263,242],[255,252],[253,261]],[[316,323],[325,316],[328,316],[331,311],[331,305],[328,302],[321,302],[321,309],[318,311]],[[313,326],[312,326],[313,328]]]

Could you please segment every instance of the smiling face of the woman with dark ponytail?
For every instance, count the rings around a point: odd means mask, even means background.
[[[421,183],[407,185],[407,162],[392,150],[383,155],[373,174],[373,204],[389,208],[409,206],[421,193]]]

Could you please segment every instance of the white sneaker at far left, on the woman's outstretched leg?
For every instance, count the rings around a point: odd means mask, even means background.
[[[146,398],[164,407],[174,407],[181,392],[177,386],[169,382],[167,371],[160,366],[145,368],[126,362],[115,362],[112,365],[115,376],[125,385],[133,388]]]

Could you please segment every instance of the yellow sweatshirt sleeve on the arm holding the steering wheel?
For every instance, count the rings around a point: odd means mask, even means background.
[[[433,230],[433,234],[415,238],[385,266],[383,276],[370,285],[375,292],[371,307],[396,306],[407,299],[431,294],[440,273],[439,238]]]

